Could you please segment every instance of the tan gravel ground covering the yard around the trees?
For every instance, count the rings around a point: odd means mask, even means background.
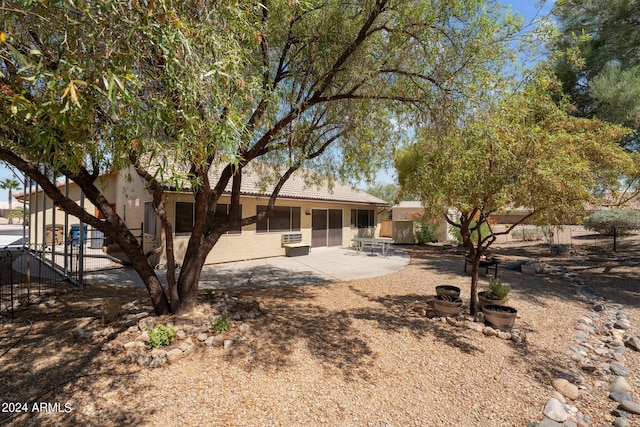
[[[410,264],[384,277],[233,291],[267,309],[247,321],[249,338],[226,350],[200,346],[157,369],[100,351],[106,338],[74,341],[70,330],[94,324],[112,288],[76,290],[51,308],[25,309],[20,314],[33,320],[31,332],[0,357],[0,424],[498,427],[540,421],[554,392],[551,381],[576,373],[568,348],[577,320],[591,309],[576,285],[559,275],[501,269],[513,289],[516,328],[526,334],[516,343],[423,316],[435,286],[459,286],[468,299],[470,280],[460,254],[409,252]],[[504,261],[545,255],[539,245],[496,252]],[[547,261],[576,273],[605,302],[623,304],[631,324],[639,324],[637,258],[593,263],[578,253]],[[481,274],[481,287],[487,281]],[[120,298],[145,300],[135,289],[122,290]],[[12,327],[27,328],[18,320]],[[634,385],[640,353],[626,357]],[[583,375],[586,390],[575,406],[594,425],[610,424],[616,403]],[[27,402],[28,411],[11,413],[13,402]],[[50,411],[34,411],[35,402]]]

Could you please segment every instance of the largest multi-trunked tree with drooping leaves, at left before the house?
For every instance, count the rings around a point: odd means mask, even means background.
[[[155,311],[190,310],[205,257],[227,230],[270,215],[303,165],[368,174],[398,127],[438,123],[474,76],[512,55],[520,20],[493,0],[8,1],[0,36],[0,160],[131,259]],[[268,209],[241,217],[243,170],[273,173]],[[132,166],[164,228],[168,290],[98,177]],[[212,168],[219,169],[212,169]],[[211,170],[220,170],[215,179]],[[62,194],[75,182],[106,220]],[[357,176],[356,176],[357,178]],[[213,215],[231,187],[225,218]],[[178,276],[167,186],[193,193]]]

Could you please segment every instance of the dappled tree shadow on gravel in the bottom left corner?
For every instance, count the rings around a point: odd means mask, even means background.
[[[97,333],[91,338],[78,338],[73,333],[81,324],[86,330],[104,331],[102,321],[97,320],[102,317],[102,301],[122,297],[123,292],[125,298],[145,297],[137,290],[74,289],[59,295],[52,307],[21,307],[16,312],[19,317],[6,320],[5,326],[24,325],[28,319],[33,327],[21,340],[7,340],[13,347],[0,352],[8,350],[0,358],[0,402],[27,404],[23,406],[26,412],[0,413],[1,425],[138,425],[153,419],[153,413],[141,413],[126,404],[133,400],[128,396],[133,398],[141,392],[132,386],[138,370],[122,366],[122,371],[113,372],[112,361],[103,364],[100,360],[102,345],[129,325],[108,325],[113,333]],[[94,387],[96,382],[100,387]],[[113,399],[105,396],[104,390],[113,391]],[[33,405],[41,403],[56,412],[34,411],[39,406]]]

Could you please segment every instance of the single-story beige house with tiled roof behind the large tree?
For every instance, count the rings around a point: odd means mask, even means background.
[[[216,170],[210,173],[211,182],[217,182]],[[305,175],[306,174],[306,175]],[[257,224],[242,229],[230,230],[222,236],[207,257],[207,264],[257,259],[285,255],[284,243],[290,237],[301,240],[311,248],[327,246],[352,246],[351,239],[357,236],[378,236],[379,216],[382,208],[388,204],[370,194],[354,189],[339,182],[331,185],[317,185],[317,174],[298,171],[294,173],[280,191],[273,215]],[[264,210],[270,192],[269,180],[255,168],[243,170],[241,186],[242,216],[255,215]],[[163,231],[155,216],[152,198],[145,189],[143,181],[127,171],[100,177],[99,185],[108,200],[130,228],[137,229],[134,234],[144,232],[145,251],[164,245]],[[227,188],[230,189],[230,186]],[[60,185],[60,190],[68,192],[73,200],[80,200],[79,188],[71,183],[69,188]],[[31,194],[29,196],[29,194]],[[186,252],[193,224],[193,195],[188,189],[176,191],[167,189],[166,210],[174,226],[174,247],[176,260],[181,262]],[[31,212],[31,241],[52,243],[56,234],[51,224],[64,224],[64,213],[51,209],[51,200],[42,197],[42,191],[27,192]],[[37,197],[36,197],[37,195]],[[22,197],[20,195],[19,197]],[[223,195],[218,204],[220,215],[226,215],[229,208],[229,193]],[[88,201],[84,208],[98,216],[99,211]],[[77,227],[78,220],[68,219],[69,232]],[[140,230],[140,228],[142,228]],[[91,237],[101,236],[97,230],[88,230],[88,246],[101,246]],[[100,240],[101,242],[101,240]],[[56,237],[56,243],[58,237]],[[158,263],[166,260],[164,250],[159,252]]]

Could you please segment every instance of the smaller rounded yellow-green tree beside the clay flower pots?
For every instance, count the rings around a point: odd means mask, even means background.
[[[617,186],[629,164],[617,145],[625,130],[568,115],[554,102],[557,89],[541,66],[522,90],[479,98],[449,128],[421,127],[396,161],[400,184],[420,195],[428,216],[457,211],[446,219],[460,230],[472,263],[471,313],[482,256],[518,225],[498,231],[492,213],[525,208],[523,221],[563,224],[596,201],[596,189]]]

